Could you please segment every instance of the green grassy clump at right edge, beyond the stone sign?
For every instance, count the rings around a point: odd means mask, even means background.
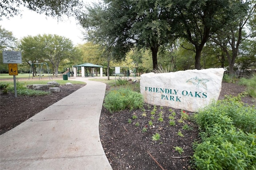
[[[251,78],[241,78],[238,82],[240,85],[246,86],[246,92],[256,98],[256,74],[254,74]]]

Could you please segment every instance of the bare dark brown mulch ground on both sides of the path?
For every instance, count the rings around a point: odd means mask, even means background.
[[[61,92],[47,96],[18,96],[18,98],[14,98],[14,94],[2,94],[1,92],[0,133],[3,134],[16,127],[82,86],[84,85],[61,86]],[[222,83],[220,99],[223,99],[226,94],[237,96],[244,90],[244,86]],[[256,105],[255,99],[250,97],[244,97],[242,101]],[[152,119],[151,111],[153,109],[154,106],[145,104],[144,110],[109,113],[102,107],[99,124],[100,139],[114,170],[191,169],[192,143],[198,140],[196,125],[190,118],[182,122],[180,117],[183,111],[170,107],[157,106],[156,114]],[[173,112],[175,113],[173,116],[175,125],[170,125],[170,115],[174,114]],[[184,112],[187,115],[193,114],[188,111]],[[160,121],[159,114],[162,114],[163,121]],[[136,115],[136,119],[134,115]],[[128,123],[128,119],[131,119],[130,123]],[[153,123],[151,126],[148,123],[150,120]],[[179,131],[180,133],[178,133]],[[152,136],[156,133],[160,135],[160,139],[153,141]],[[180,154],[174,147],[180,147],[184,152]]]

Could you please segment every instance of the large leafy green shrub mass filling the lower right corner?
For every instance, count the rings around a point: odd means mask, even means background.
[[[196,169],[256,167],[256,110],[236,100],[220,100],[194,115],[202,143],[194,144]]]

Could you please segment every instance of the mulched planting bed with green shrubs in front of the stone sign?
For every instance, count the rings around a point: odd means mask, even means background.
[[[114,170],[255,170],[256,110],[241,102],[243,95],[192,113],[143,104],[129,90],[108,91],[100,118]]]

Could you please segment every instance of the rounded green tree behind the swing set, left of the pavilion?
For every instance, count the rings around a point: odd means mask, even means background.
[[[55,76],[58,76],[58,67],[65,59],[74,59],[76,48],[70,39],[59,35],[27,36],[19,45],[22,58],[28,63],[50,62]]]

